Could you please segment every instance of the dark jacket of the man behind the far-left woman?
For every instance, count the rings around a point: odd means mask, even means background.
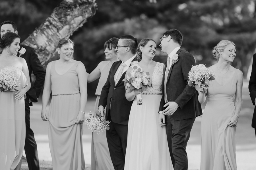
[[[40,95],[42,87],[44,86],[45,70],[44,70],[42,64],[40,63],[34,48],[20,44],[20,49],[22,47],[26,49],[26,52],[20,57],[24,58],[28,65],[30,82],[31,82],[32,72],[36,76],[34,86],[31,87],[28,92],[26,92],[26,96],[32,102],[37,102],[37,98]],[[17,56],[19,56],[19,55],[20,54],[18,53]],[[30,106],[32,106],[32,102],[30,103]]]

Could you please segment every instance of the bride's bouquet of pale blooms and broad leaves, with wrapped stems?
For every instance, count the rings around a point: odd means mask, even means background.
[[[124,86],[129,89],[140,89],[142,87],[152,87],[150,78],[149,78],[149,72],[145,72],[141,70],[141,68],[138,68],[138,66],[133,66],[133,70],[131,70],[127,77],[123,79]],[[141,94],[137,94],[137,101],[138,105],[142,105],[143,99],[141,98]]]

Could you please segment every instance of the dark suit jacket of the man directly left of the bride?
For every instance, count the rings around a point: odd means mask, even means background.
[[[137,57],[133,61],[136,60]],[[114,123],[128,125],[129,115],[131,111],[131,105],[133,101],[129,102],[125,97],[125,86],[123,84],[123,79],[125,78],[125,73],[121,76],[118,83],[115,85],[114,75],[117,71],[119,65],[122,61],[117,61],[113,63],[110,68],[108,79],[102,88],[99,100],[99,106],[103,106],[106,109],[106,120],[109,120],[109,106],[111,101],[111,120]],[[131,66],[131,65],[130,65]]]

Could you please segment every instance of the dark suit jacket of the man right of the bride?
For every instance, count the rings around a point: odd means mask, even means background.
[[[198,101],[198,92],[194,87],[187,84],[188,73],[191,67],[195,65],[195,59],[192,54],[179,49],[178,61],[174,63],[168,74],[166,83],[166,94],[168,102],[176,102],[179,107],[172,115],[175,120],[189,119],[202,115],[201,104]],[[171,63],[170,63],[171,64]],[[167,65],[167,64],[165,64]],[[164,73],[166,66],[164,68]],[[159,111],[164,110],[164,76],[162,83],[163,96]]]

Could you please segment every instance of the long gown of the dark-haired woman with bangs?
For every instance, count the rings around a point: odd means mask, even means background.
[[[107,81],[111,66],[112,64],[110,63],[110,61],[107,61],[106,66],[103,68],[100,68],[100,79],[95,92],[97,98],[95,101],[93,113],[95,113],[98,110],[100,93],[101,93],[102,87],[105,85]],[[104,119],[105,119],[105,116],[104,116]],[[114,166],[111,161],[110,153],[108,149],[106,131],[100,132],[100,134],[97,134],[97,132],[92,132],[91,165],[92,165],[92,170],[102,170],[102,169],[114,170]]]

